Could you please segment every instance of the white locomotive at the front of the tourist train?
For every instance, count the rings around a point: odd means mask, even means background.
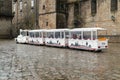
[[[16,43],[28,43],[28,31],[20,29],[20,34],[15,38]]]

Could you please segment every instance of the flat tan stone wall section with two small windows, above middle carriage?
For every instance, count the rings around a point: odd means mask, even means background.
[[[40,28],[56,28],[56,0],[40,0],[39,4]]]

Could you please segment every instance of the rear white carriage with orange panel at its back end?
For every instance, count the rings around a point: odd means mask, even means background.
[[[99,51],[108,47],[104,28],[77,28],[70,30],[68,46],[70,48]]]

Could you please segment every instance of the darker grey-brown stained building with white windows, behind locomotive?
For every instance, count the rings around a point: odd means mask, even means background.
[[[38,28],[38,3],[39,0],[13,0],[12,12],[14,18],[14,34],[19,33],[19,29],[36,29]]]

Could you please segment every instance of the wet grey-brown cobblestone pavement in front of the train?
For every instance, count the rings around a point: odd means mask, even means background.
[[[120,43],[95,53],[0,40],[0,80],[120,80]]]

